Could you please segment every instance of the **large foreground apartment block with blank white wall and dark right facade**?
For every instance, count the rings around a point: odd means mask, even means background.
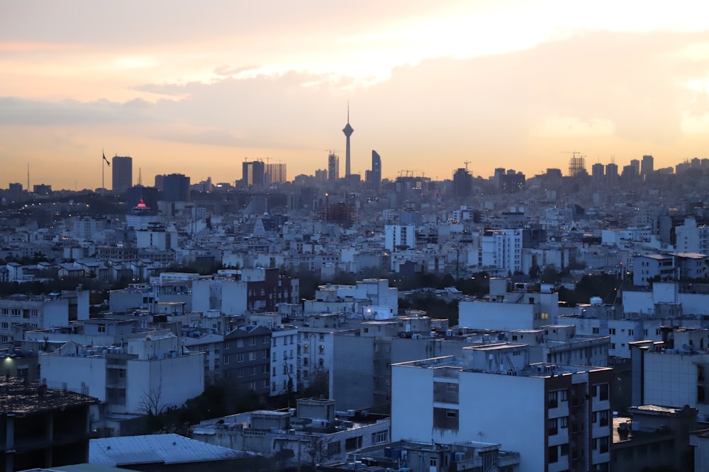
[[[608,471],[613,369],[526,360],[505,344],[393,364],[391,439],[497,442],[520,471]]]

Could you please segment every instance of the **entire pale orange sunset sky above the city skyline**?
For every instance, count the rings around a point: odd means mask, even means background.
[[[0,188],[111,188],[102,152],[192,183],[567,173],[709,158],[709,4],[569,0],[0,2]]]

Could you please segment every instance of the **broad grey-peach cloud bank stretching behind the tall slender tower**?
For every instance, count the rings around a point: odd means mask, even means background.
[[[155,103],[0,98],[0,124],[73,125],[79,136],[88,125],[118,123],[124,135],[166,147],[311,156],[298,161],[300,173],[323,167],[325,149],[344,148],[349,100],[353,168],[368,166],[377,149],[387,172],[430,166],[442,174],[472,157],[489,175],[485,166],[524,169],[532,156],[558,157],[569,145],[595,155],[620,144],[652,152],[689,143],[708,98],[687,84],[703,83],[707,58],[686,51],[707,41],[709,33],[583,32],[506,54],[423,60],[366,87],[303,71],[248,76],[240,71],[250,68],[224,64],[211,83],[140,86],[169,97]]]

